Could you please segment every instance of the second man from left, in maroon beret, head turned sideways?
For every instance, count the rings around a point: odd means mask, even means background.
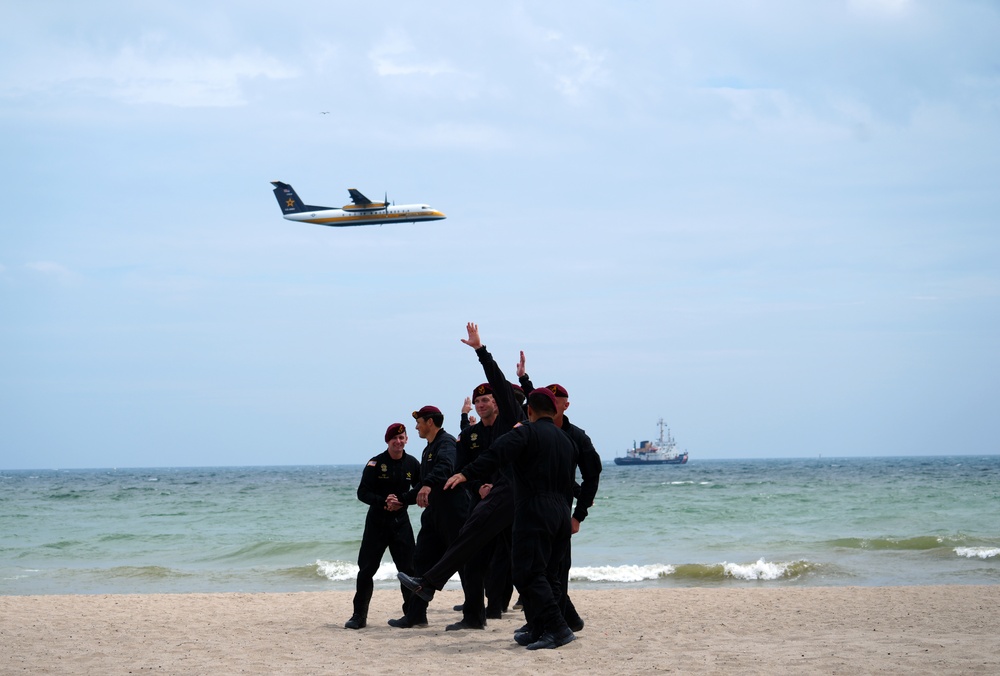
[[[421,575],[441,558],[458,535],[469,514],[469,494],[442,490],[444,482],[455,471],[457,450],[455,437],[441,427],[444,424],[441,410],[436,406],[424,406],[413,412],[413,419],[417,434],[427,441],[420,457],[420,483],[398,496],[397,501],[424,508],[413,555],[413,571]],[[401,618],[389,620],[389,626],[400,629],[426,625],[427,601],[416,595],[410,597]]]

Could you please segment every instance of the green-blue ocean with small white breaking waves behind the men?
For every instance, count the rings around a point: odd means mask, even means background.
[[[0,594],[352,590],[360,476],[0,471]],[[997,584],[998,515],[1000,456],[608,462],[571,585]],[[386,557],[376,588],[395,572]]]

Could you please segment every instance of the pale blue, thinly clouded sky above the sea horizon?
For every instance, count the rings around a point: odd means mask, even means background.
[[[0,469],[360,464],[484,378],[605,460],[1000,452],[1000,5],[0,7]],[[326,112],[327,114],[323,114]],[[270,181],[443,221],[281,218]]]

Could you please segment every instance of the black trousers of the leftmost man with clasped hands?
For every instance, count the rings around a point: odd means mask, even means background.
[[[375,588],[374,578],[378,567],[382,564],[385,550],[389,550],[396,570],[413,574],[413,527],[406,510],[398,512],[372,512],[365,517],[365,532],[361,536],[361,549],[358,551],[358,581],[354,593],[354,616],[365,619],[368,617],[368,604],[372,600]],[[403,593],[403,612],[406,612],[412,592],[399,585]]]

